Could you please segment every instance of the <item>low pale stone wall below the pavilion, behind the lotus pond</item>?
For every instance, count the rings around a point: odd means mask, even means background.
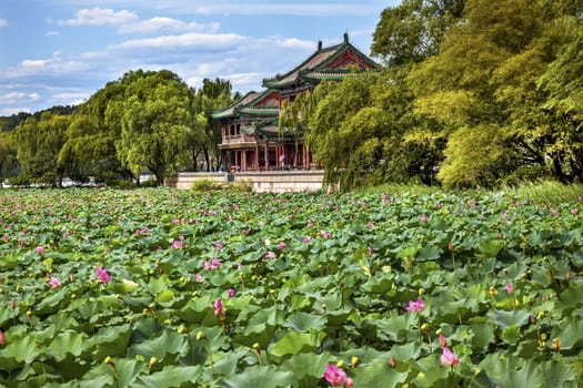
[[[190,188],[198,180],[214,182],[245,182],[255,193],[285,193],[322,190],[324,171],[269,171],[228,173],[179,173],[164,182],[165,186]]]

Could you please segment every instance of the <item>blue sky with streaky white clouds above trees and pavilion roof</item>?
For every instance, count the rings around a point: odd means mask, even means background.
[[[129,70],[169,69],[198,88],[260,90],[313,51],[364,53],[401,0],[1,0],[0,115],[79,104]]]

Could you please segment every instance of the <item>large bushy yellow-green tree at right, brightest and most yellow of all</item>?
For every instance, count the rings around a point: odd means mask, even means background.
[[[557,7],[550,0],[466,1],[463,22],[446,32],[440,53],[409,76],[416,112],[440,122],[452,136],[440,171],[443,182],[496,184],[544,171],[561,180],[573,177],[564,174],[562,142],[572,147],[577,140],[556,135],[562,119],[549,114],[550,92],[541,82],[581,33],[575,32],[577,14],[581,6]],[[486,144],[489,139],[495,150],[475,149],[475,142]],[[487,159],[483,169],[472,174],[459,169],[479,159]]]

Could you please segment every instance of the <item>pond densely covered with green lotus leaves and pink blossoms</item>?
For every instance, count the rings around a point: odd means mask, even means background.
[[[480,191],[3,191],[0,385],[583,386],[581,212]]]

